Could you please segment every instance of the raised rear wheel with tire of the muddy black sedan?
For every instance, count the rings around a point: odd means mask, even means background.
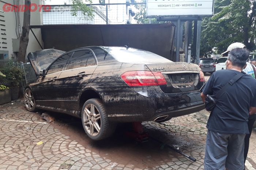
[[[105,139],[116,130],[116,124],[109,122],[108,114],[100,99],[87,100],[81,113],[84,131],[92,140]]]

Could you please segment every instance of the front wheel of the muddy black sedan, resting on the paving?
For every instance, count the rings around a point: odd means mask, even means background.
[[[35,108],[35,98],[30,88],[26,88],[23,97],[26,109],[29,112],[36,112],[37,109]]]

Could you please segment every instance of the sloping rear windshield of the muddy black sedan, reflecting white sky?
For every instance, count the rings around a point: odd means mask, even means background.
[[[121,63],[170,63],[172,61],[157,54],[125,47],[101,47]]]

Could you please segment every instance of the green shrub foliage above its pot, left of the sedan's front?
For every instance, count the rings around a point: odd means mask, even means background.
[[[24,79],[23,70],[12,61],[8,62],[6,67],[0,69],[1,72],[6,75],[3,81],[11,83],[12,87],[19,86],[20,82]]]

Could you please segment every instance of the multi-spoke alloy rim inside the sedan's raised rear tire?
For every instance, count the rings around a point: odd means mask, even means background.
[[[83,121],[86,131],[91,136],[97,136],[101,130],[101,115],[99,114],[99,110],[95,105],[90,103],[85,106],[83,112],[85,114]]]

